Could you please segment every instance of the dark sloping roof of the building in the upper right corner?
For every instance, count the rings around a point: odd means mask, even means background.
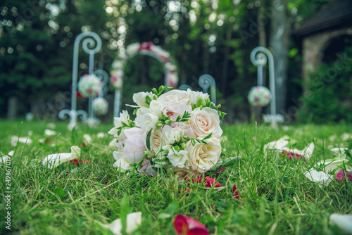
[[[305,20],[294,30],[297,37],[313,34],[331,27],[352,26],[352,0],[335,0]]]

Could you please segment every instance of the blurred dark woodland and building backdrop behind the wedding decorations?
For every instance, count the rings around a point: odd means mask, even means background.
[[[73,43],[99,34],[94,69],[109,72],[119,51],[153,42],[175,58],[180,84],[201,90],[199,76],[217,84],[225,122],[247,122],[247,95],[257,83],[250,61],[256,46],[275,58],[277,113],[287,122],[352,121],[351,0],[2,0],[0,118],[56,119],[70,107]],[[88,73],[80,49],[78,77]],[[266,66],[268,67],[268,66]],[[125,68],[123,103],[163,84],[163,65],[149,56]],[[269,86],[268,71],[264,85]],[[111,90],[106,99],[113,102]],[[80,102],[82,104],[80,104]],[[79,104],[84,106],[84,102]],[[122,108],[125,108],[123,106]],[[260,112],[265,112],[260,110]],[[105,121],[111,121],[112,107]]]

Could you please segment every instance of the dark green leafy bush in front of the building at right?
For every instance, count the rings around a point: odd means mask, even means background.
[[[352,46],[339,54],[351,58]],[[310,92],[303,96],[303,110],[299,115],[301,120],[311,115],[316,123],[352,122],[352,66],[345,62],[330,60],[310,75],[310,81],[306,84]]]

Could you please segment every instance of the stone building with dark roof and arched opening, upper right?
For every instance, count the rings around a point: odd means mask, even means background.
[[[308,79],[322,63],[325,53],[344,47],[342,38],[352,40],[352,0],[334,0],[305,20],[294,30],[294,36],[302,46],[302,73]],[[352,58],[341,58],[352,65]]]

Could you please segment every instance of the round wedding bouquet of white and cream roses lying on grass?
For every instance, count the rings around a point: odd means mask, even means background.
[[[226,113],[199,91],[161,86],[133,95],[134,121],[123,110],[108,133],[117,139],[114,167],[155,175],[156,169],[203,174],[221,161],[220,117]]]

